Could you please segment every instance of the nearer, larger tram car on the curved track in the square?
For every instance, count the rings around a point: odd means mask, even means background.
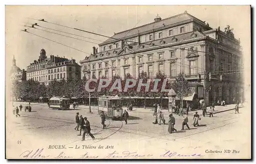
[[[104,112],[106,119],[121,120],[123,99],[116,96],[102,96],[98,99],[98,113]]]

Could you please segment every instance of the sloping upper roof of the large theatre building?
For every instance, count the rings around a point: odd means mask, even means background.
[[[161,27],[163,27],[163,24],[166,26],[166,25],[170,25],[170,24],[183,22],[183,21],[186,21],[186,20],[191,20],[191,19],[196,19],[196,20],[200,21],[201,23],[204,23],[203,21],[201,21],[198,18],[188,14],[185,11],[182,14],[178,14],[178,15],[175,15],[175,16],[172,16],[172,17],[168,17],[168,18],[162,19],[162,20],[157,21],[157,22],[148,23],[148,24],[145,24],[145,25],[138,26],[137,28],[133,28],[133,29],[126,30],[126,31],[123,31],[123,32],[120,32],[120,33],[116,33],[111,38],[107,39],[103,43],[100,43],[99,45],[108,44],[112,41],[116,41],[117,39],[118,40],[122,39],[122,38],[126,37],[126,35],[128,33],[129,33],[129,36],[132,36],[132,35],[138,34],[138,32],[143,33],[143,32],[146,32],[146,31],[153,30],[153,29],[161,28]]]

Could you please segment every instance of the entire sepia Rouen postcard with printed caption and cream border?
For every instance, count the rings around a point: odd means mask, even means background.
[[[6,6],[7,159],[250,159],[250,6]]]

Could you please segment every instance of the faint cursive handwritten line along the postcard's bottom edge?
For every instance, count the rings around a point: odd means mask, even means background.
[[[203,155],[198,154],[198,153],[190,153],[190,154],[182,154],[178,152],[172,152],[172,151],[166,151],[162,154],[150,154],[150,153],[137,153],[136,151],[129,151],[125,150],[122,152],[117,152],[113,151],[111,153],[107,154],[101,154],[99,155],[94,155],[90,154],[89,152],[85,152],[83,154],[77,154],[77,156],[70,156],[67,155],[66,152],[61,151],[57,156],[52,156],[49,154],[44,153],[44,148],[41,149],[36,149],[36,150],[26,150],[23,153],[21,153],[19,156],[25,159],[44,159],[44,158],[49,158],[49,159],[104,159],[104,158],[172,158],[172,157],[202,157]]]

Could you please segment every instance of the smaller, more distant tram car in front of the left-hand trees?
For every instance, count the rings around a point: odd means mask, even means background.
[[[52,97],[49,100],[49,107],[53,110],[69,110],[70,99],[61,97]]]

